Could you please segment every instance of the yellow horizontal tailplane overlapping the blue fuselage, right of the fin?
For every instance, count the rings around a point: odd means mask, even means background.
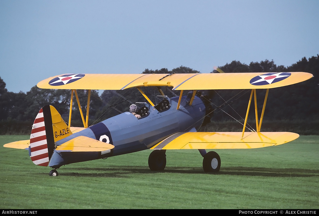
[[[57,151],[70,151],[70,152],[102,152],[113,149],[114,145],[98,141],[93,138],[79,136],[58,145]]]

